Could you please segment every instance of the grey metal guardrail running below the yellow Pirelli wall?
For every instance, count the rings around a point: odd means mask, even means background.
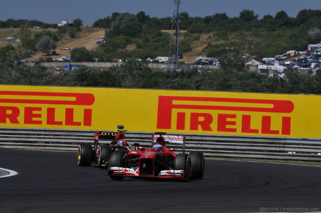
[[[150,148],[152,133],[126,132],[126,140]],[[0,149],[77,151],[79,144],[93,145],[94,134],[95,131],[89,130],[0,128]],[[184,135],[185,151],[200,151],[206,157],[321,161],[321,139]],[[100,144],[108,142],[100,140]],[[173,148],[181,151],[179,146]]]

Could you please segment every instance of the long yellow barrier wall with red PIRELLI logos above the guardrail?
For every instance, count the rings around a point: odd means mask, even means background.
[[[0,85],[0,127],[321,138],[321,96]]]

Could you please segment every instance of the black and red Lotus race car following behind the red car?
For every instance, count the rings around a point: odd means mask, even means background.
[[[128,144],[125,141],[124,126],[118,125],[117,132],[97,131],[94,136],[94,147],[89,144],[81,144],[78,148],[78,165],[90,166],[91,163],[97,163],[99,168],[108,168],[110,155],[114,151],[128,153],[131,150],[144,151],[145,147],[139,146],[138,143]],[[99,145],[100,139],[113,139],[106,145]]]

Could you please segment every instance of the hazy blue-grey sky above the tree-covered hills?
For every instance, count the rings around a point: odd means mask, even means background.
[[[274,16],[283,10],[288,16],[296,17],[303,9],[321,9],[320,2],[321,0],[182,0],[180,12],[187,12],[192,17],[205,17],[215,13],[239,17],[242,9],[250,9],[261,19],[266,14]],[[171,16],[173,8],[173,0],[1,0],[0,20],[14,18],[58,23],[67,16],[70,22],[80,18],[84,25],[91,25],[114,12],[136,14],[144,11],[151,17],[164,18]]]

